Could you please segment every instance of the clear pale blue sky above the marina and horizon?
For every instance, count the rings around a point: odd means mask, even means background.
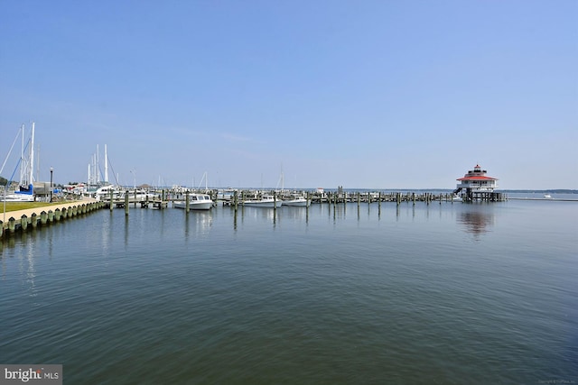
[[[0,0],[2,176],[34,122],[37,177],[63,184],[107,144],[129,186],[455,188],[480,164],[578,189],[577,19],[578,0]]]

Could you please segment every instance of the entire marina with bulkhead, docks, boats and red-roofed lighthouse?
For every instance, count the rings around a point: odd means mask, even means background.
[[[106,147],[105,147],[106,148]],[[336,188],[325,190],[316,188],[312,190],[263,190],[263,189],[209,189],[205,188],[126,188],[111,184],[98,188],[95,192],[88,192],[86,189],[70,187],[72,193],[62,196],[64,199],[72,199],[74,203],[64,203],[59,207],[47,206],[45,209],[39,208],[33,211],[4,213],[0,220],[0,236],[14,234],[17,231],[26,231],[30,225],[36,228],[40,223],[46,225],[51,223],[52,218],[66,218],[77,213],[86,213],[94,209],[107,207],[110,211],[114,208],[123,208],[125,215],[130,213],[130,206],[140,206],[141,208],[164,209],[170,205],[175,208],[184,209],[186,213],[190,210],[210,210],[213,206],[232,206],[237,212],[240,207],[262,207],[272,208],[274,211],[282,206],[309,208],[312,204],[329,205],[336,209],[337,206],[347,206],[352,203],[359,206],[367,204],[377,204],[378,211],[381,205],[395,203],[400,206],[402,203],[424,202],[430,205],[433,202],[443,203],[474,203],[474,202],[504,202],[508,200],[508,194],[494,191],[498,187],[497,180],[486,176],[487,171],[482,170],[480,165],[476,165],[473,170],[468,171],[461,179],[461,183],[452,192],[420,192],[420,191],[355,191]],[[204,177],[203,177],[204,178]],[[31,197],[34,197],[31,195]],[[555,201],[550,194],[543,197],[514,197],[514,199],[536,199]],[[52,196],[51,196],[52,200]],[[74,201],[77,200],[77,201]],[[573,200],[573,199],[570,199]],[[558,198],[557,201],[560,201]],[[6,219],[7,217],[7,219]],[[48,219],[50,217],[50,219]]]

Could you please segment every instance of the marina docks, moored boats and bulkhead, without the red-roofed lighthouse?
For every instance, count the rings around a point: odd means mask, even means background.
[[[209,190],[204,194],[200,193],[183,193],[174,189],[151,189],[148,191],[136,190],[130,191],[123,188],[101,188],[94,197],[71,196],[80,200],[63,202],[59,205],[41,206],[35,209],[26,209],[15,212],[7,212],[4,219],[0,219],[0,237],[9,236],[19,231],[26,231],[29,228],[36,228],[38,225],[51,224],[54,220],[59,221],[61,218],[86,214],[96,209],[115,208],[124,209],[125,215],[129,215],[130,206],[134,208],[156,208],[164,209],[169,207],[182,208],[187,210],[202,209],[209,210],[212,206],[256,206],[263,208],[278,209],[281,206],[294,206],[308,208],[311,204],[325,205],[345,205],[357,203],[361,204],[377,203],[378,209],[381,209],[381,203],[393,202],[400,205],[402,202],[424,202],[429,205],[432,202],[453,203],[453,197],[450,193],[415,193],[415,192],[360,192],[360,191],[343,191],[337,189],[331,191],[300,191],[300,192],[281,192],[261,190],[241,190],[235,191],[228,198],[219,199],[219,190]],[[240,199],[239,199],[240,197]],[[215,199],[214,201],[212,199]],[[188,202],[187,202],[188,201]],[[285,203],[286,202],[286,203]]]

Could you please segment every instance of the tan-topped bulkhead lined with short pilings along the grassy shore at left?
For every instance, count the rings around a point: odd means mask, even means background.
[[[5,223],[0,219],[0,238],[24,232],[30,229],[36,229],[39,225],[46,226],[55,222],[75,217],[77,215],[86,215],[92,211],[104,207],[104,202],[74,202],[58,206],[43,206],[37,209],[23,210],[28,214],[18,215],[21,211],[6,213]]]

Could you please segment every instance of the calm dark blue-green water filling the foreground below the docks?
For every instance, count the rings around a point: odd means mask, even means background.
[[[65,383],[578,383],[574,202],[131,207],[0,244],[0,362]]]

